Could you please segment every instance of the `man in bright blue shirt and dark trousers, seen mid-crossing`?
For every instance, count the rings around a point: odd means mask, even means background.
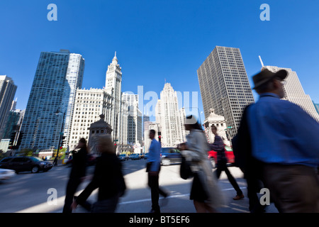
[[[148,153],[146,171],[148,172],[148,186],[151,189],[152,209],[150,213],[160,213],[159,194],[167,199],[168,192],[159,187],[159,172],[161,169],[161,144],[155,139],[155,130],[150,130],[149,137],[152,140]]]

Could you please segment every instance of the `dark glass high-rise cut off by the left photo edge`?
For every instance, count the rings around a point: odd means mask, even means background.
[[[4,128],[16,94],[16,88],[11,77],[0,76],[0,140],[4,135]]]

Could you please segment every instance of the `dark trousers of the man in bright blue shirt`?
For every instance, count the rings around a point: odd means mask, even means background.
[[[159,175],[150,175],[148,174],[148,186],[151,189],[151,196],[152,196],[152,210],[155,212],[160,212],[159,209],[159,194],[162,196],[167,196],[167,192],[164,192],[161,188],[159,188]]]

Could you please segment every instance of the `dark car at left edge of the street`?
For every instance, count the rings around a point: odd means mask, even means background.
[[[52,162],[43,161],[39,157],[5,157],[0,161],[0,168],[15,170],[16,173],[24,171],[35,173],[40,170],[46,172],[52,169]]]

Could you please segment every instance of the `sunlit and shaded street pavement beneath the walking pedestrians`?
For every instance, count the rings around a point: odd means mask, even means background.
[[[145,172],[146,160],[128,160],[123,163],[123,173],[128,190],[120,200],[118,213],[147,213],[151,208],[150,189],[147,188],[147,173]],[[191,179],[184,180],[179,177],[179,165],[162,166],[159,175],[159,184],[170,192],[168,203],[162,206],[163,213],[194,213],[194,205],[189,200]],[[0,212],[30,212],[30,213],[61,213],[65,199],[65,187],[70,168],[65,166],[53,167],[48,172],[31,174],[23,172],[7,182],[0,183]],[[88,167],[88,173],[94,167]],[[226,204],[219,209],[224,213],[247,213],[248,199],[245,179],[242,172],[236,167],[230,167],[230,172],[237,179],[245,198],[234,201],[235,190],[222,173],[218,184],[224,192]],[[77,194],[89,182],[83,182]],[[57,204],[48,204],[48,189],[57,190]],[[90,202],[96,201],[97,190],[89,197]],[[160,205],[162,204],[160,200]],[[77,213],[85,212],[78,206]],[[267,208],[267,212],[277,212],[274,205]]]

